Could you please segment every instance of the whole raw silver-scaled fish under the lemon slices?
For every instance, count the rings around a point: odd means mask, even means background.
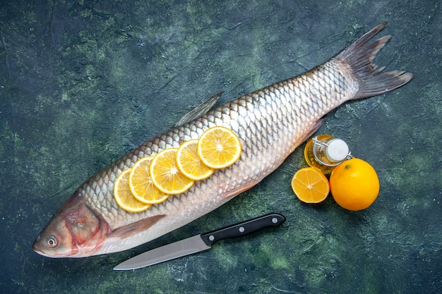
[[[47,257],[127,250],[184,226],[253,187],[316,131],[329,111],[350,99],[382,94],[411,80],[411,73],[381,73],[383,68],[372,62],[390,36],[368,41],[385,25],[374,27],[311,71],[239,97],[133,149],[73,193],[38,235],[34,250]],[[145,212],[130,213],[117,205],[113,186],[121,171],[142,157],[196,139],[215,125],[239,136],[242,153],[237,163]]]

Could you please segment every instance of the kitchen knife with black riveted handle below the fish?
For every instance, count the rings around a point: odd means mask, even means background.
[[[232,226],[226,226],[225,228],[219,228],[215,231],[194,235],[193,237],[179,240],[175,243],[157,247],[148,252],[141,253],[141,255],[127,259],[125,262],[121,262],[117,267],[114,267],[114,270],[125,271],[129,269],[141,269],[142,267],[149,267],[153,264],[159,264],[160,262],[167,262],[167,260],[208,250],[212,247],[213,243],[219,240],[240,237],[241,235],[247,235],[268,226],[280,226],[284,221],[285,216],[282,214],[273,213],[258,216],[255,219],[249,219],[248,221],[243,221]]]

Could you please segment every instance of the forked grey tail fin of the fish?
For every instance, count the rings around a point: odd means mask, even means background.
[[[359,90],[353,99],[366,98],[395,90],[409,82],[413,75],[405,71],[381,73],[385,67],[378,68],[373,61],[376,54],[385,46],[390,35],[367,44],[369,39],[380,32],[387,23],[381,23],[357,39],[335,59],[340,59],[352,68],[352,73],[359,82]]]

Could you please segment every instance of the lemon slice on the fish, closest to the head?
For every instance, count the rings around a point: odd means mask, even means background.
[[[122,209],[128,212],[143,212],[150,207],[150,204],[145,204],[136,200],[129,188],[129,173],[131,169],[125,169],[120,173],[114,183],[114,198],[117,204]]]

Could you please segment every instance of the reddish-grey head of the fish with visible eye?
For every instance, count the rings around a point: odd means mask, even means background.
[[[76,193],[47,223],[32,247],[46,257],[87,257],[100,249],[109,231],[108,223]]]

